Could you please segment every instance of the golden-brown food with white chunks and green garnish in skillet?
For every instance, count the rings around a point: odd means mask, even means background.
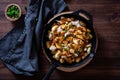
[[[78,63],[90,54],[92,37],[83,21],[61,17],[48,31],[46,46],[60,63]]]

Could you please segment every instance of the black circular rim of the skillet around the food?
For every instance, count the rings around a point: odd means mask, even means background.
[[[47,49],[46,47],[46,41],[48,40],[46,35],[47,35],[47,32],[48,30],[50,30],[52,28],[52,24],[56,21],[56,20],[59,20],[60,17],[73,17],[77,20],[82,20],[83,22],[85,22],[85,24],[87,25],[87,28],[89,28],[92,32],[92,35],[93,35],[93,39],[91,40],[91,43],[92,43],[92,49],[91,49],[91,52],[88,56],[85,57],[85,59],[81,60],[80,62],[76,63],[71,63],[71,64],[68,64],[68,63],[60,63],[59,61],[55,60],[53,57],[52,57],[52,54],[50,54],[50,50]],[[85,18],[79,16],[78,15],[73,15],[73,11],[68,11],[68,12],[62,12],[60,14],[57,14],[55,15],[53,18],[51,18],[48,23],[45,25],[45,28],[43,30],[43,35],[42,35],[42,50],[43,50],[43,53],[45,54],[45,56],[47,57],[47,59],[54,65],[57,65],[57,66],[61,66],[61,67],[66,67],[66,68],[70,68],[70,67],[78,67],[80,65],[83,65],[85,64],[89,59],[93,58],[94,57],[94,54],[96,53],[96,50],[97,50],[97,37],[96,37],[96,32],[95,32],[95,29],[93,27],[93,25],[88,21],[86,20]]]

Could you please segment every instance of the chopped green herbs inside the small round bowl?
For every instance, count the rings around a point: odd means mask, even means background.
[[[10,18],[18,18],[19,17],[19,9],[17,6],[15,5],[11,5],[10,7],[8,7],[7,9],[7,16]]]

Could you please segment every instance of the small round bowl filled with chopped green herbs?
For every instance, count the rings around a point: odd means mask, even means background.
[[[9,4],[5,9],[5,16],[10,21],[16,21],[21,17],[21,8],[18,4]]]

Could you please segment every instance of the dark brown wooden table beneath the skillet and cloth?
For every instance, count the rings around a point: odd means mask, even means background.
[[[70,10],[85,9],[93,15],[93,25],[98,34],[98,49],[94,59],[86,67],[71,73],[55,70],[50,80],[120,80],[120,0],[66,0]],[[22,7],[28,0],[0,0],[0,38],[14,25],[4,16],[9,3]],[[38,80],[50,66],[42,51],[40,52],[40,72],[34,77],[13,74],[0,61],[0,80]]]

